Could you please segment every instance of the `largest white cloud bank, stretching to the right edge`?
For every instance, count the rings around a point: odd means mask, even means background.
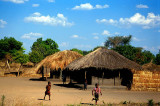
[[[97,19],[97,23],[111,24],[115,26],[131,27],[132,25],[142,26],[143,29],[149,29],[160,25],[160,16],[154,13],[148,13],[147,17],[140,13],[134,14],[130,18],[120,18],[119,20],[113,19]]]

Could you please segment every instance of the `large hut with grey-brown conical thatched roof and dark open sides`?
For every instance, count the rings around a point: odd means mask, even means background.
[[[79,83],[87,79],[90,84],[127,85],[132,82],[132,70],[141,70],[141,66],[101,47],[70,63],[67,70],[73,71],[71,76]]]

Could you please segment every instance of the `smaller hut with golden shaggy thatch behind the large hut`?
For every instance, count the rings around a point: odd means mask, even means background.
[[[75,59],[82,57],[81,54],[75,51],[64,50],[47,56],[36,66],[36,72],[40,73],[43,70],[46,73],[50,72],[50,77],[61,78],[63,69]],[[43,72],[44,73],[44,72]],[[44,73],[45,74],[45,73]]]

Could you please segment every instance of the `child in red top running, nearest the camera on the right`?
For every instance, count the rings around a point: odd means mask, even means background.
[[[94,98],[92,100],[95,100],[97,105],[97,101],[99,100],[99,94],[102,95],[101,88],[99,88],[99,85],[97,83],[95,84],[95,88],[92,90],[92,95],[93,92],[94,92]]]

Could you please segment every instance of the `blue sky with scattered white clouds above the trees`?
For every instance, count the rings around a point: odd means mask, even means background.
[[[91,50],[130,34],[133,46],[158,53],[160,0],[0,0],[0,39],[15,37],[26,53],[39,37]]]

